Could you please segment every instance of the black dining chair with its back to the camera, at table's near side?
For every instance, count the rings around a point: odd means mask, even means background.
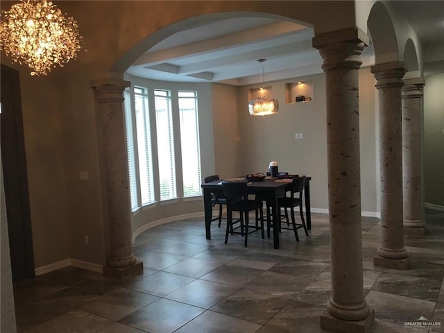
[[[228,242],[228,234],[244,235],[244,244],[247,246],[248,234],[261,230],[264,239],[264,213],[262,212],[261,200],[250,200],[248,198],[248,185],[246,182],[222,182],[223,195],[227,200],[227,230],[225,232],[225,244]],[[255,211],[255,224],[249,225],[248,214]],[[235,232],[233,228],[232,212],[239,212],[240,232]],[[259,214],[258,214],[259,213]],[[258,224],[260,222],[260,225]],[[250,231],[251,230],[251,231]]]

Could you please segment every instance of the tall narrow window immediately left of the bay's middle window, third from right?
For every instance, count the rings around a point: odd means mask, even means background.
[[[153,158],[151,156],[151,130],[146,89],[134,88],[137,128],[137,153],[139,158],[139,184],[142,205],[154,202]]]

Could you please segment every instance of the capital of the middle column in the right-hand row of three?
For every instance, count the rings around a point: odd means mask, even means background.
[[[371,67],[371,71],[377,80],[377,89],[402,87],[404,85],[402,77],[406,73],[406,69],[403,62],[395,61],[377,64]]]

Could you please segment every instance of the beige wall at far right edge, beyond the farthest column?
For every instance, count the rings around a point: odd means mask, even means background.
[[[444,74],[424,87],[425,202],[444,209]]]

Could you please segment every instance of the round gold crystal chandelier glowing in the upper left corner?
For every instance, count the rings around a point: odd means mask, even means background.
[[[1,12],[0,49],[12,62],[26,63],[31,75],[47,75],[76,59],[82,48],[78,24],[46,0],[21,0]]]

